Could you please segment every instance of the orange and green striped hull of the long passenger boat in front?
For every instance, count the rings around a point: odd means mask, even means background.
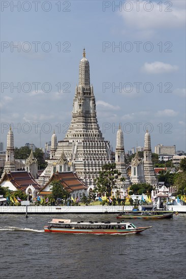
[[[45,226],[44,231],[45,232],[59,232],[59,233],[86,233],[86,234],[128,234],[128,233],[140,233],[146,229],[151,228],[149,227],[138,227],[133,229],[109,229],[109,230],[91,230],[91,229],[68,229],[68,228],[55,228],[55,227],[49,227]]]

